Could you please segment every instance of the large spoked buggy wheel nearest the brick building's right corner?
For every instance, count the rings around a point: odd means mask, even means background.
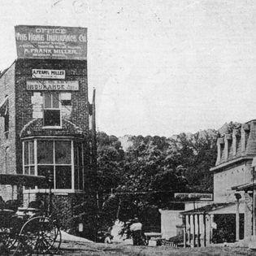
[[[46,254],[57,251],[61,244],[58,224],[44,216],[28,219],[20,230],[18,249],[26,254]]]

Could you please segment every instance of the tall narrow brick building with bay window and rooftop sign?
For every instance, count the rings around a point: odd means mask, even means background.
[[[94,202],[95,144],[91,124],[95,105],[88,100],[86,45],[81,46],[82,40],[76,44],[78,38],[86,37],[86,29],[78,28],[83,34],[77,35],[76,28],[18,28],[16,41],[23,40],[23,45],[17,44],[18,59],[0,76],[0,170],[36,176],[51,174],[55,212],[64,220],[64,228],[76,229],[74,223],[86,218],[74,220],[74,216],[86,215],[86,209],[93,210]],[[86,44],[84,39],[82,42]],[[50,48],[50,44],[56,49],[65,46],[76,51],[48,49],[38,54],[38,49]],[[72,58],[74,53],[76,58]],[[4,200],[14,197],[24,206],[38,198],[47,203],[48,193],[49,188],[44,185],[1,187]],[[82,202],[82,207],[77,207]]]

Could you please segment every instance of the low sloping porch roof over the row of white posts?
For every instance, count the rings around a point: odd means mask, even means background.
[[[225,213],[225,212],[220,212],[223,211],[224,208],[235,206],[235,202],[223,202],[223,203],[214,203],[208,206],[202,206],[194,210],[186,210],[180,212],[180,215],[203,215],[203,214],[220,214],[220,213]],[[235,208],[234,208],[235,209]],[[233,213],[233,209],[228,210],[229,213]],[[236,211],[234,211],[235,213]]]

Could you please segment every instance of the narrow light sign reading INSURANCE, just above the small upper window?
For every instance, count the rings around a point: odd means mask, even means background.
[[[27,80],[27,89],[30,91],[77,91],[79,83],[77,80]]]

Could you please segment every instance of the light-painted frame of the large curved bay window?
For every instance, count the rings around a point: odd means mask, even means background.
[[[30,140],[24,140],[23,143],[23,173],[25,174],[25,167],[28,167],[28,164],[25,164],[25,143],[28,141],[33,141],[34,143],[34,175],[37,176],[38,175],[38,167],[40,166],[50,166],[54,168],[54,188],[52,188],[52,192],[53,193],[85,193],[85,161],[84,161],[84,143],[83,141],[76,141],[75,139],[70,139],[70,138],[49,138],[49,137],[42,137],[42,138],[33,138]],[[37,163],[37,150],[38,150],[38,141],[53,141],[53,157],[54,157],[54,161],[53,163]],[[71,145],[71,152],[70,152],[70,156],[71,156],[71,161],[70,163],[56,163],[55,162],[55,141],[69,141],[70,145]],[[83,158],[83,166],[82,166],[82,188],[80,188],[78,186],[78,189],[76,189],[76,184],[75,184],[75,163],[74,163],[74,144],[79,143],[80,144],[80,148],[81,148],[81,154],[82,154],[82,158]],[[28,142],[29,145],[29,142]],[[28,147],[28,159],[29,158],[29,147]],[[59,166],[63,166],[63,167],[71,167],[71,173],[72,173],[72,188],[71,189],[57,189],[56,188],[56,167]],[[30,169],[29,169],[30,170]],[[29,171],[30,174],[30,171]],[[24,193],[49,193],[48,188],[46,189],[42,189],[42,188],[38,188],[38,186],[35,186],[35,188],[24,188]]]

